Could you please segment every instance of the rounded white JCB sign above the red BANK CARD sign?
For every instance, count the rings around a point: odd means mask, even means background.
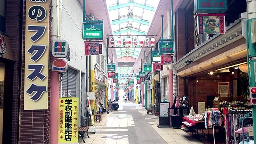
[[[52,56],[56,58],[65,58],[68,54],[68,43],[63,39],[53,40]]]

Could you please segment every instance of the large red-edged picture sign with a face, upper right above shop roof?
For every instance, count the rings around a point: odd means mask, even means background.
[[[225,34],[225,14],[197,14],[198,34]]]

